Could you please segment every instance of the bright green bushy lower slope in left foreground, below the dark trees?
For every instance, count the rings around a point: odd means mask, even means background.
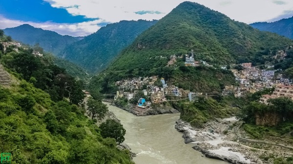
[[[0,87],[0,120],[1,151],[11,152],[14,164],[132,164],[128,151],[103,139],[84,110],[67,101],[54,103],[24,80]]]

